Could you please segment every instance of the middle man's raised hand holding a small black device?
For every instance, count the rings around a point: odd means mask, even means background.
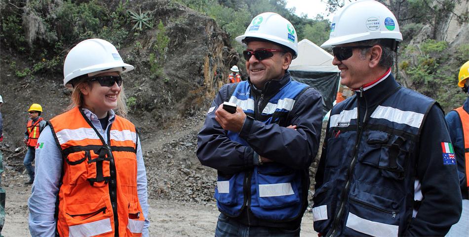
[[[236,107],[235,114],[224,110],[223,104],[218,106],[217,111],[215,111],[215,120],[227,131],[240,132],[245,118],[246,114],[239,106]]]

